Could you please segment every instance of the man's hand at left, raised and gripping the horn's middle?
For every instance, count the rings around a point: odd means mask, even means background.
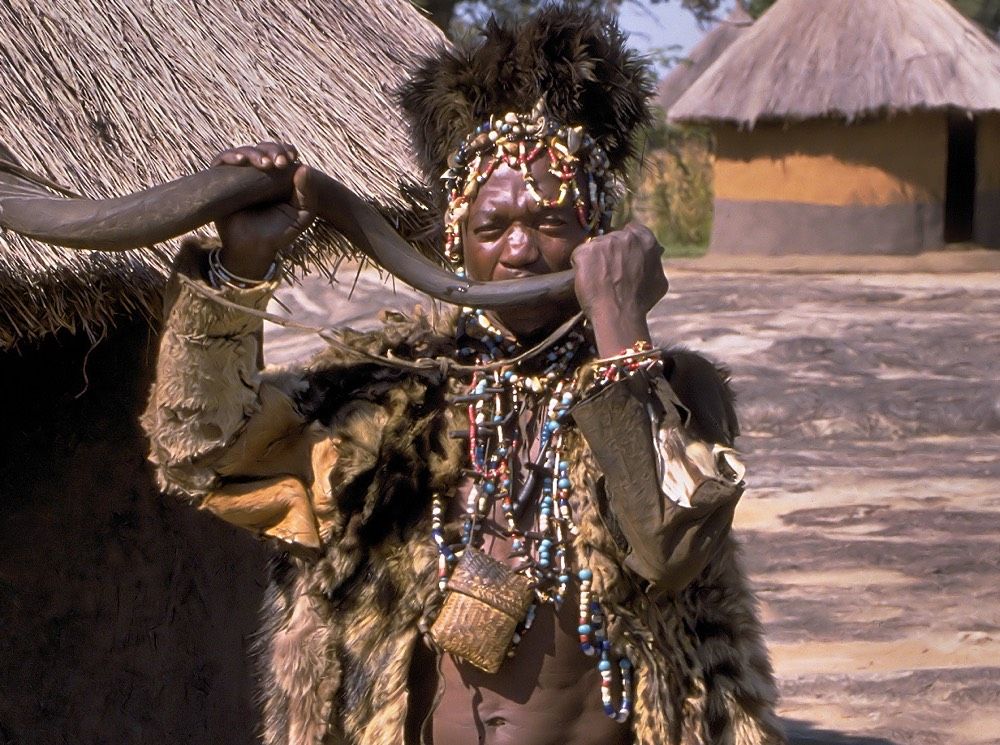
[[[308,228],[316,216],[308,166],[292,145],[261,142],[219,153],[213,166],[249,166],[259,171],[294,169],[293,189],[283,202],[234,212],[215,223],[222,239],[222,265],[246,279],[263,279],[277,255]]]

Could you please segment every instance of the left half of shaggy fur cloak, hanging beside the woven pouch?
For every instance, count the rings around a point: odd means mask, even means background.
[[[346,332],[356,349],[433,355],[426,319],[390,314],[381,333]],[[461,452],[447,437],[439,373],[360,361],[331,347],[306,372],[297,405],[329,427],[351,473],[321,556],[274,566],[258,644],[268,745],[403,741],[407,675],[423,619],[436,611],[430,495],[453,488]],[[374,404],[345,416],[358,401]]]

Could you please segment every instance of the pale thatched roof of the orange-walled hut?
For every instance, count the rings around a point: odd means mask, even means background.
[[[674,121],[1000,110],[1000,48],[946,0],[778,0],[681,96]]]

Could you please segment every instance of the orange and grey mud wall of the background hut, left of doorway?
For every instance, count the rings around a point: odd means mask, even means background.
[[[714,129],[711,251],[913,254],[943,244],[944,114]]]

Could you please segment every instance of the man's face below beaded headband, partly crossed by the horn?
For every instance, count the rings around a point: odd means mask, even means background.
[[[531,164],[539,192],[559,194],[559,179],[548,172],[548,159]],[[572,200],[543,207],[531,196],[520,171],[499,166],[479,188],[465,222],[462,250],[469,277],[483,281],[519,279],[570,268],[573,250],[587,238]],[[498,313],[520,337],[552,330],[578,310],[574,301],[526,306]]]

